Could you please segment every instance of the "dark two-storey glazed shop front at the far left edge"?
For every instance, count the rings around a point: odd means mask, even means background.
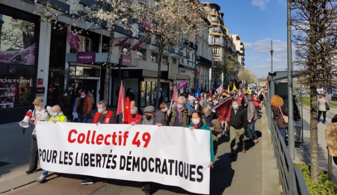
[[[20,121],[36,95],[39,20],[0,5],[0,124]]]

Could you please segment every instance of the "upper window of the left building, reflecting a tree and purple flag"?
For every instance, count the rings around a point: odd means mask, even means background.
[[[0,62],[35,65],[35,23],[0,13]]]

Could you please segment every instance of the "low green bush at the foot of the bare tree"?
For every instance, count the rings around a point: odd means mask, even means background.
[[[304,163],[294,163],[294,165],[301,170],[310,195],[337,195],[337,184],[328,180],[326,172],[319,172],[319,183],[316,184],[310,179],[309,165]]]

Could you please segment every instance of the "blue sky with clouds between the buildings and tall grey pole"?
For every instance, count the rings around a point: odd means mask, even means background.
[[[245,46],[245,68],[257,78],[287,68],[287,0],[200,0],[221,7],[231,34],[240,36]],[[294,52],[294,51],[293,51]]]

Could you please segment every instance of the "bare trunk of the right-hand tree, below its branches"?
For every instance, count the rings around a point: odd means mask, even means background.
[[[318,183],[317,91],[310,86],[310,178]]]

